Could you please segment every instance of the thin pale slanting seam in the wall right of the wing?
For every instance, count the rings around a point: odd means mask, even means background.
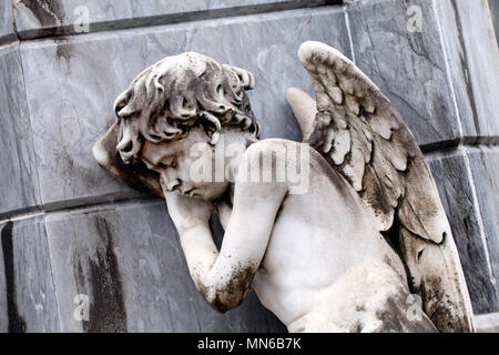
[[[476,213],[477,213],[478,232],[480,234],[481,243],[482,243],[483,250],[486,252],[487,267],[489,270],[489,275],[490,275],[489,278],[490,278],[490,282],[492,284],[496,284],[496,277],[495,277],[495,274],[493,274],[492,263],[490,261],[489,245],[487,243],[487,236],[485,234],[483,219],[482,219],[481,211],[480,211],[480,204],[478,202],[477,186],[475,185],[475,179],[473,179],[473,175],[472,175],[472,172],[471,172],[471,164],[470,164],[470,161],[469,161],[468,152],[466,151],[466,146],[465,146],[465,139],[464,139],[465,132],[464,132],[464,129],[462,129],[461,113],[459,111],[459,105],[457,103],[456,90],[454,88],[452,74],[450,72],[449,55],[447,53],[446,42],[444,40],[444,29],[442,29],[441,22],[440,22],[440,12],[438,11],[438,7],[437,7],[436,1],[437,0],[431,0],[431,6],[434,8],[435,18],[436,18],[438,32],[439,32],[439,38],[440,38],[440,45],[441,45],[441,50],[442,50],[442,53],[444,53],[444,61],[445,61],[446,72],[447,72],[447,81],[448,81],[448,85],[449,85],[449,89],[450,89],[450,94],[452,97],[454,108],[456,110],[456,118],[457,118],[457,121],[458,121],[459,133],[461,135],[459,145],[458,145],[458,150],[460,150],[462,152],[464,160],[465,160],[466,172],[467,172],[468,181],[469,181],[470,187],[471,187],[472,203],[475,204],[475,209],[476,209]],[[458,36],[462,36],[462,33],[458,33]]]

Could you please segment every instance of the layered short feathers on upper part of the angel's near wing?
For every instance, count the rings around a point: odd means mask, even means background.
[[[388,99],[350,60],[306,42],[299,60],[317,97],[308,140],[373,209],[388,231],[397,214],[414,234],[441,243],[450,235],[437,187],[413,134]]]

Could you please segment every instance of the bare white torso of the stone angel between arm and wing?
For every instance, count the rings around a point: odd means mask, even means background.
[[[308,192],[285,199],[253,285],[262,303],[288,326],[304,317],[334,317],[338,297],[354,310],[346,323],[355,325],[355,308],[366,308],[364,294],[369,293],[364,287],[401,292],[404,265],[347,182],[315,151],[310,161]],[[325,320],[319,322],[329,322]],[[344,331],[334,328],[338,325],[329,328]]]

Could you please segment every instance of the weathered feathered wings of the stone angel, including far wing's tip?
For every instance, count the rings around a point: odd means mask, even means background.
[[[319,42],[298,57],[316,102],[289,89],[304,141],[360,195],[404,260],[413,293],[441,332],[472,332],[459,256],[431,173],[389,100],[349,59]],[[315,106],[316,105],[316,106]]]

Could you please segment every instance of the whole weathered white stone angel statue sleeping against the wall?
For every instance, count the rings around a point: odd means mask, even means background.
[[[289,332],[472,332],[457,248],[413,134],[337,50],[305,42],[298,57],[316,93],[286,93],[303,142],[258,140],[253,75],[189,52],[132,81],[93,154],[165,199],[192,280],[218,312],[253,286]]]

